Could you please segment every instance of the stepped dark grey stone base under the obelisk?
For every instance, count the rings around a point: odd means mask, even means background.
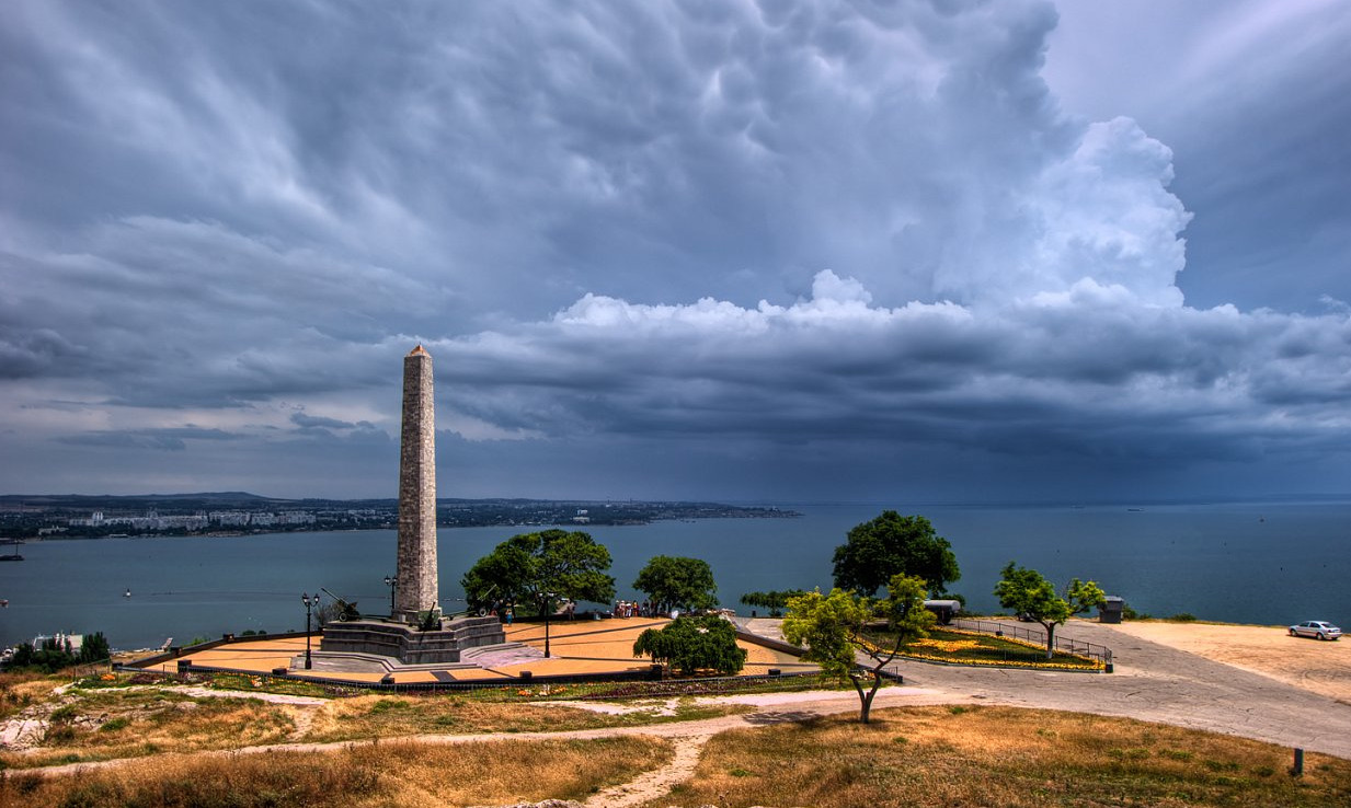
[[[404,665],[434,665],[459,662],[461,653],[469,649],[505,642],[501,622],[490,616],[443,619],[440,629],[431,631],[419,631],[407,623],[365,619],[324,626],[319,650],[393,657]]]

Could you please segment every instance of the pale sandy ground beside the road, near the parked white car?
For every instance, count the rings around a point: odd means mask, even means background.
[[[1285,626],[1147,621],[1112,627],[1351,704],[1351,639],[1290,637]]]

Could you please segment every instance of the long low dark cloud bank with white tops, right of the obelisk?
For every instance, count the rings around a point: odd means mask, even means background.
[[[754,309],[586,295],[547,322],[432,349],[457,409],[558,436],[1152,456],[1179,440],[1221,455],[1250,436],[1333,442],[1351,426],[1344,314],[1158,306],[1092,279],[998,309],[875,306],[831,271],[813,290]]]

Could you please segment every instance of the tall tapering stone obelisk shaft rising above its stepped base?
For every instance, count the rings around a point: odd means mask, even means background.
[[[415,623],[440,610],[436,591],[436,402],[431,353],[404,357],[404,425],[399,448],[399,567],[394,614]]]

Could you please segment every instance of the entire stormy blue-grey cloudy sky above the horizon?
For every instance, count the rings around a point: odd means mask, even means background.
[[[0,492],[1351,490],[1342,0],[0,15]]]

